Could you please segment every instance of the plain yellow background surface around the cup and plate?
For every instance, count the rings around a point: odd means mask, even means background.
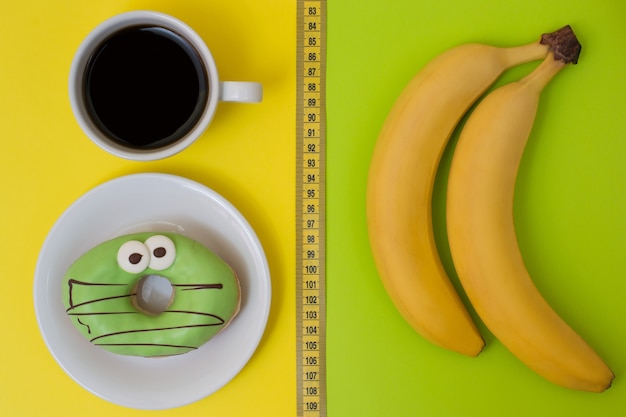
[[[0,414],[3,416],[277,416],[295,410],[295,2],[6,1],[0,3]],[[107,154],[76,123],[67,80],[74,52],[101,21],[152,9],[205,40],[223,80],[259,81],[261,104],[218,106],[186,151],[139,163]],[[269,323],[243,371],[210,397],[148,413],[108,403],[54,361],[32,303],[35,265],[50,228],[102,182],[165,172],[213,188],[256,230],[272,274]]]

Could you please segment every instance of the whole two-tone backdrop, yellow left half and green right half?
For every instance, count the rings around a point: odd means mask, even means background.
[[[626,3],[619,0],[327,0],[328,415],[619,416],[626,407]],[[223,79],[263,83],[260,105],[221,104],[183,153],[137,163],[110,156],[79,129],[67,97],[87,33],[128,10],[153,9],[204,38]],[[465,42],[509,46],[571,24],[580,62],[546,88],[516,189],[520,246],[537,286],[605,358],[614,386],[594,395],[529,371],[481,325],[476,359],[443,351],[405,324],[369,252],[365,186],[377,133],[408,80]],[[0,4],[0,413],[6,416],[295,413],[295,92],[293,0]],[[535,64],[507,72],[518,79]],[[445,239],[445,168],[435,197]],[[272,272],[268,327],[231,383],[179,409],[121,408],[78,386],[40,337],[32,304],[41,245],[63,211],[94,186],[137,172],[185,176],[246,216]]]

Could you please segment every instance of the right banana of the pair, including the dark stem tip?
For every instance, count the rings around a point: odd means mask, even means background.
[[[461,284],[496,338],[549,381],[601,392],[613,372],[539,293],[513,222],[515,181],[541,91],[580,52],[566,29],[532,73],[488,94],[468,118],[448,178],[448,239]]]

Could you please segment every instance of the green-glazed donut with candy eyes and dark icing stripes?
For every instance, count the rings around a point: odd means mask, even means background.
[[[171,284],[171,298],[157,310],[142,304],[147,277]],[[199,348],[230,323],[241,300],[230,266],[175,233],[135,233],[101,243],[72,264],[62,285],[63,304],[80,333],[131,356]]]

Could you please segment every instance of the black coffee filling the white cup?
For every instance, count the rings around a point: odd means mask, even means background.
[[[105,40],[89,59],[84,84],[93,122],[113,140],[139,149],[185,136],[208,97],[196,50],[161,27],[133,27]]]

